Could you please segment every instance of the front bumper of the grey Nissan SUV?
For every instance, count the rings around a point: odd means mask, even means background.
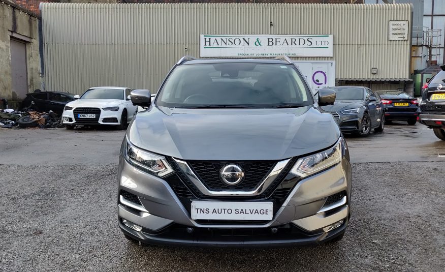
[[[271,221],[203,224],[191,219],[187,207],[166,180],[120,158],[118,222],[125,234],[147,244],[231,247],[320,244],[341,235],[346,228],[351,178],[351,165],[343,158],[340,164],[299,180],[277,207]],[[120,195],[122,190],[136,195],[140,204],[135,206],[125,200]],[[344,202],[338,202],[340,205],[332,209],[328,205],[326,209],[327,198],[340,192],[345,192]],[[141,229],[130,228],[123,220]],[[326,229],[341,220],[337,228]],[[188,233],[187,228],[193,232]],[[276,233],[272,233],[274,228]]]

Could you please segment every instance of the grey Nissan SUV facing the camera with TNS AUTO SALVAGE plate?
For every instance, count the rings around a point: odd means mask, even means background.
[[[118,224],[146,244],[269,247],[340,240],[351,164],[334,117],[288,57],[183,57],[130,124]]]

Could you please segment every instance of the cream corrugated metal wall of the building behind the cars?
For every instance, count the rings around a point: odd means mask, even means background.
[[[200,34],[334,35],[337,78],[408,78],[410,37],[388,41],[388,21],[411,6],[350,4],[42,3],[47,90],[81,94],[93,85],[156,92]],[[273,23],[273,26],[270,25]],[[372,76],[370,68],[378,68]]]

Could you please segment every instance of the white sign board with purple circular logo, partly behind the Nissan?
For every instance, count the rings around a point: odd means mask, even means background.
[[[335,86],[334,61],[296,61],[294,63],[313,94],[321,88]]]

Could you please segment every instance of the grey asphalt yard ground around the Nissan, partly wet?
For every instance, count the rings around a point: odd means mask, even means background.
[[[336,244],[152,247],[117,226],[124,131],[0,129],[0,271],[444,271],[445,141],[396,123],[346,136],[352,217]]]

